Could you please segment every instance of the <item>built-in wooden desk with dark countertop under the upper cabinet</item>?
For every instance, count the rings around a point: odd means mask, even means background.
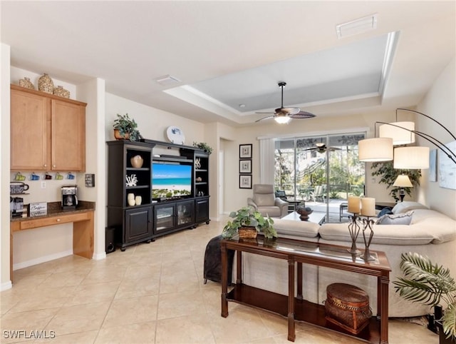
[[[43,216],[11,218],[9,239],[9,275],[13,281],[14,232],[46,226],[73,223],[73,254],[92,259],[95,202],[80,201],[78,208],[61,209],[60,202],[48,203],[48,213]]]

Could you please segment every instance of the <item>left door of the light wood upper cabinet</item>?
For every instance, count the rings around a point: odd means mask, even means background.
[[[11,170],[51,169],[51,100],[11,89]]]

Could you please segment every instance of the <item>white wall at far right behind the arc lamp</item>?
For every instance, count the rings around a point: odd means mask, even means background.
[[[455,57],[453,57],[452,61],[450,61],[448,66],[442,71],[442,74],[440,74],[437,80],[435,80],[435,83],[427,92],[423,101],[418,104],[417,111],[435,118],[437,121],[442,123],[443,126],[448,128],[453,135],[456,135]],[[417,116],[417,130],[423,131],[424,133],[437,138],[439,141],[442,141],[442,143],[449,143],[453,141],[449,133],[436,123],[432,122],[429,118],[425,118],[425,116]],[[429,146],[430,149],[435,149],[435,146],[432,146],[432,144],[423,138],[418,138],[418,142],[420,143],[420,146]],[[440,151],[438,154],[440,154]],[[428,171],[423,171],[418,201],[456,219],[456,190],[440,188],[438,181],[438,169],[439,166],[437,163],[436,182],[429,181]],[[453,176],[456,178],[456,167],[453,171]]]

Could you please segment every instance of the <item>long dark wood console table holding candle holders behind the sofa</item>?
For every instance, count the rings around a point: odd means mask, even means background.
[[[338,330],[353,335],[343,328],[326,321],[323,305],[311,303],[303,299],[302,264],[324,266],[377,277],[378,314],[361,333],[354,335],[357,338],[368,340],[371,343],[388,343],[388,283],[390,281],[390,265],[385,253],[371,251],[375,260],[365,262],[358,256],[348,253],[343,246],[295,241],[278,238],[274,241],[264,237],[249,241],[235,239],[222,240],[222,317],[228,316],[228,301],[252,305],[256,308],[269,310],[288,318],[288,340],[294,341],[295,320],[313,323],[324,328]],[[228,293],[227,271],[228,250],[237,251],[237,279],[236,285]],[[254,253],[288,260],[289,291],[287,295],[272,293],[267,290],[254,288],[242,283],[242,252]],[[295,264],[297,263],[297,297],[294,298]]]

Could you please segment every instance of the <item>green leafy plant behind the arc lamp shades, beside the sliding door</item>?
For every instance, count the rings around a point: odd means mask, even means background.
[[[400,174],[405,174],[410,178],[414,187],[420,186],[420,177],[421,177],[421,170],[402,170],[393,167],[393,161],[380,161],[372,163],[372,176],[379,176],[380,181],[379,183],[386,184],[386,188],[390,189],[390,195],[393,196],[395,201],[399,201],[399,191],[400,187],[393,186],[396,178]],[[412,195],[412,188],[403,188],[405,193],[408,196]]]

